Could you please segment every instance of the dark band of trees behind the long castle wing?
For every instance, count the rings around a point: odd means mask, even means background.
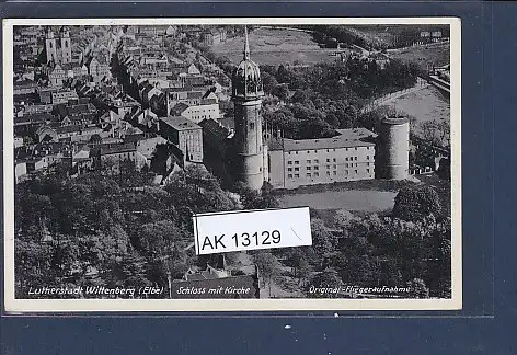
[[[375,61],[359,59],[303,69],[261,68],[264,91],[271,95],[264,101],[263,117],[292,139],[332,137],[337,128],[372,129],[378,117],[371,121],[371,115],[360,115],[360,107],[374,98],[414,85],[417,76],[411,64],[391,61],[380,69]]]

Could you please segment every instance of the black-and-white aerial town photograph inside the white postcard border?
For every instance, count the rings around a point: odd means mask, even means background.
[[[16,299],[451,298],[449,25],[12,41]],[[312,245],[196,253],[196,214],[291,207]]]

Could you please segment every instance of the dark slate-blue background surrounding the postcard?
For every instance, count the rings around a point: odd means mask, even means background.
[[[460,16],[463,310],[9,316],[2,354],[517,354],[517,3],[44,3],[2,18]],[[495,271],[495,272],[494,272]],[[3,271],[2,271],[3,277]],[[287,328],[285,325],[290,325]]]

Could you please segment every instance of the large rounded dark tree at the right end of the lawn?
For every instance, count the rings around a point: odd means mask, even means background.
[[[402,187],[395,197],[392,216],[403,220],[418,220],[430,214],[439,216],[441,204],[436,191],[426,185]]]

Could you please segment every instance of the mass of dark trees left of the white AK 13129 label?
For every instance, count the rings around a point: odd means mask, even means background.
[[[39,286],[166,287],[202,262],[189,248],[193,213],[276,206],[267,188],[237,188],[240,198],[197,167],[164,188],[99,171],[35,175],[15,188],[16,297]]]

